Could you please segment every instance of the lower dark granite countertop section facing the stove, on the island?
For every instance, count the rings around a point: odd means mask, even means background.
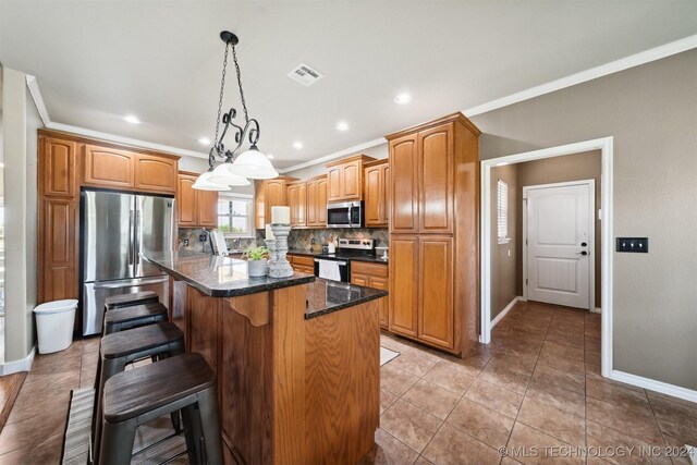
[[[317,278],[307,285],[305,319],[320,317],[354,305],[365,304],[388,293],[372,287]]]

